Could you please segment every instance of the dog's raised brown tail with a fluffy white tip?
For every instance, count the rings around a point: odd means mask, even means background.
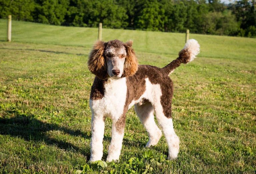
[[[200,45],[195,39],[190,39],[185,44],[184,48],[179,52],[179,57],[166,65],[162,70],[167,73],[171,74],[180,64],[187,64],[193,61],[198,53],[200,52]]]

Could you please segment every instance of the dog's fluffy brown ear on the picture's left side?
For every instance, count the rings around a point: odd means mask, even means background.
[[[90,72],[103,80],[108,76],[106,60],[103,56],[105,47],[105,42],[97,41],[93,46],[87,62]]]

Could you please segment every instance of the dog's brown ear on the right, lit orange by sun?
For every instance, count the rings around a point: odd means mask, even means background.
[[[132,41],[124,43],[124,47],[127,55],[124,62],[124,72],[122,77],[127,77],[134,75],[138,70],[138,60],[132,49]]]

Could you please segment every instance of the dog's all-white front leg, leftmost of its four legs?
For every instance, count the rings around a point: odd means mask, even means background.
[[[103,137],[104,137],[105,117],[103,115],[92,114],[91,120],[91,157],[90,161],[101,160],[103,155]]]

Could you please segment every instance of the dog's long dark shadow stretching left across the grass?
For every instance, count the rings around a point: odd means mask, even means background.
[[[76,151],[86,157],[87,160],[90,158],[90,148],[79,148],[76,145],[60,140],[57,138],[50,137],[48,131],[62,131],[72,136],[80,136],[85,139],[91,139],[91,134],[87,135],[81,130],[72,130],[67,127],[59,126],[54,123],[46,123],[35,118],[33,114],[21,114],[15,110],[7,110],[9,114],[13,114],[11,118],[0,117],[0,134],[10,135],[13,137],[23,138],[26,141],[44,142],[47,145],[55,145],[60,149],[66,151]],[[111,141],[110,136],[104,136],[104,141]],[[123,140],[124,145],[143,147],[141,142],[134,142],[128,139]],[[103,159],[106,159],[107,154],[104,153]]]

